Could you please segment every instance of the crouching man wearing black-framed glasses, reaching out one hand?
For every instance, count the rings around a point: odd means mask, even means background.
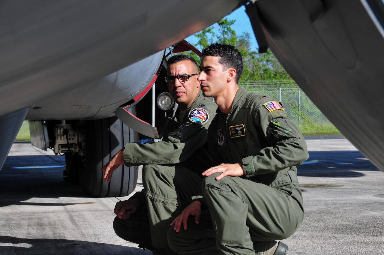
[[[194,58],[170,57],[165,79],[179,107],[167,124],[163,140],[130,142],[100,169],[109,182],[112,172],[121,164],[144,165],[144,189],[116,203],[113,227],[119,237],[154,254],[178,254],[168,246],[170,223],[192,202],[202,204],[201,174],[212,166],[203,144],[217,105],[202,95],[198,75]],[[200,216],[195,216],[199,221]]]

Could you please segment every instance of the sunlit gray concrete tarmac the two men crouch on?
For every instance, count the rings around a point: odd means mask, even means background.
[[[308,139],[298,166],[305,219],[285,242],[289,255],[384,255],[384,173],[347,139]],[[65,159],[15,143],[0,171],[0,254],[152,252],[113,231],[114,205],[63,181]],[[136,190],[141,190],[141,175]]]

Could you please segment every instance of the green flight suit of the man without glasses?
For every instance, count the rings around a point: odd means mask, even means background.
[[[221,180],[215,179],[216,173],[203,180],[218,252],[260,254],[263,242],[291,236],[304,217],[296,166],[308,159],[308,150],[281,104],[240,88],[228,116],[218,109],[208,142],[215,165],[240,163],[245,172]],[[182,254],[201,254],[201,247],[190,249],[206,238],[189,235],[194,228],[199,226],[191,222],[186,231],[168,232],[170,247]]]

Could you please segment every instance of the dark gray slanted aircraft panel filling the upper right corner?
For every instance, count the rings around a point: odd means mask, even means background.
[[[383,2],[258,0],[247,9],[262,30],[253,26],[260,48],[266,43],[324,115],[384,171]]]

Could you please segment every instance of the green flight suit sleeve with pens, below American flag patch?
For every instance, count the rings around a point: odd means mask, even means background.
[[[263,134],[265,143],[270,146],[264,147],[255,156],[242,159],[247,177],[280,171],[299,165],[308,159],[303,134],[283,109],[270,111],[261,105],[254,116],[258,132]]]

